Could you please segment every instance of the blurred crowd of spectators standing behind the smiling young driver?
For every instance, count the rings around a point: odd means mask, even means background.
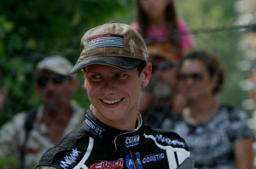
[[[196,168],[253,168],[255,133],[244,111],[218,101],[224,65],[212,51],[198,50],[172,0],[137,0],[137,30],[148,46],[152,79],[143,88],[140,112],[151,127],[174,131],[189,144]],[[42,104],[16,114],[0,130],[0,166],[34,168],[63,134],[84,120],[73,100],[79,82],[61,56],[38,63],[35,90]],[[0,110],[6,87],[0,91]],[[16,161],[16,166],[12,166]]]

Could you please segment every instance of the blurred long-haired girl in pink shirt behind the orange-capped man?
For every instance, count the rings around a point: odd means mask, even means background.
[[[189,27],[177,17],[174,0],[137,0],[137,22],[131,27],[138,31],[148,46],[165,46],[172,58],[181,58],[195,48]]]

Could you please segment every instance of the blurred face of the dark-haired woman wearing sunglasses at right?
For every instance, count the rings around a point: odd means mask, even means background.
[[[179,72],[179,80],[188,101],[213,96],[212,90],[216,82],[209,76],[207,67],[201,60],[185,60]]]

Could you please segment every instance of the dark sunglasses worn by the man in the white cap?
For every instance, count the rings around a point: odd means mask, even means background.
[[[49,82],[53,82],[54,84],[61,84],[65,82],[67,78],[70,78],[70,76],[62,76],[59,74],[54,74],[50,77],[38,76],[36,78],[36,82],[40,87],[46,87]]]

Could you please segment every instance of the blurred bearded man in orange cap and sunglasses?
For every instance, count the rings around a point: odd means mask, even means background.
[[[166,46],[151,45],[148,57],[152,62],[152,78],[143,88],[140,110],[151,127],[168,129],[183,109],[183,97],[177,93],[177,64],[179,59]]]

